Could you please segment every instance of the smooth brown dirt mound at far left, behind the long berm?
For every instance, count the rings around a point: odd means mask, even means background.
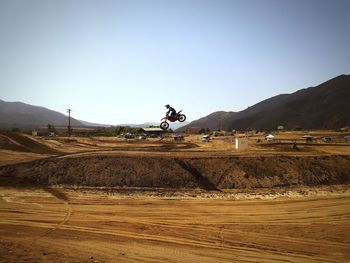
[[[37,142],[23,134],[16,132],[0,132],[0,145],[3,149],[42,153],[42,154],[59,154],[60,152],[49,146]]]

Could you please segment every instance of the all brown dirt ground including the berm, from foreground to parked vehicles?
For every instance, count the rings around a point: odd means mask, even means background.
[[[1,133],[0,263],[349,262],[350,143],[313,135]]]

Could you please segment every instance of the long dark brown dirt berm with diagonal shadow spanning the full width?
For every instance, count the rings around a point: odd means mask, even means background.
[[[51,158],[0,168],[0,183],[106,187],[261,188],[348,184],[350,156]]]

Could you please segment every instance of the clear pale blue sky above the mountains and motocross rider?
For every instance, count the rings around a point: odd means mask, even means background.
[[[0,99],[90,122],[240,111],[350,73],[349,0],[0,0]]]

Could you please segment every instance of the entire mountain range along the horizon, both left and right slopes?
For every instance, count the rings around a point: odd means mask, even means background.
[[[190,127],[211,130],[276,129],[337,129],[350,126],[350,75],[340,75],[316,87],[298,90],[292,94],[281,94],[261,101],[239,112],[217,111],[185,123],[172,123],[173,130],[184,131]],[[0,100],[0,128],[41,127],[51,124],[67,126],[67,116],[44,107],[23,102]],[[158,126],[159,123],[125,124],[131,127]],[[100,126],[71,118],[71,126]],[[115,125],[117,126],[117,125]],[[122,125],[120,125],[122,126]]]

